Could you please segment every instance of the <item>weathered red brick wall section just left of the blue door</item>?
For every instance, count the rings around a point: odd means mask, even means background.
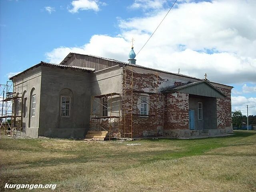
[[[164,129],[188,129],[188,94],[166,94],[164,108]]]

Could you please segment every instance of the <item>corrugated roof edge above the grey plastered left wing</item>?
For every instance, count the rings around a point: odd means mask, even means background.
[[[20,75],[20,74],[22,74],[22,73],[24,73],[24,72],[26,72],[26,71],[28,71],[28,70],[30,70],[30,69],[32,69],[32,68],[36,68],[36,67],[39,67],[39,66],[48,66],[48,67],[57,67],[57,68],[70,68],[70,69],[78,69],[78,70],[81,70],[81,71],[90,71],[90,72],[94,72],[94,70],[95,69],[93,69],[93,68],[85,68],[85,67],[77,67],[77,66],[75,66],[75,67],[73,67],[73,66],[66,66],[66,65],[60,65],[60,64],[54,64],[54,63],[48,63],[48,62],[43,62],[43,61],[41,61],[40,63],[38,63],[38,64],[36,64],[36,65],[34,65],[34,66],[32,66],[32,67],[30,67],[30,68],[27,68],[26,70],[24,70],[24,71],[22,71],[22,72],[20,72],[20,73],[18,73],[18,74],[16,74],[16,75],[14,75],[14,76],[12,76],[11,78],[10,78],[10,80],[12,80],[14,77],[16,77],[16,76],[18,76],[18,75]]]

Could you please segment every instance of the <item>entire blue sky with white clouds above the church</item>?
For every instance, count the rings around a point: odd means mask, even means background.
[[[0,0],[0,83],[69,52],[128,62],[175,0]],[[136,64],[233,86],[256,115],[256,0],[177,0]]]

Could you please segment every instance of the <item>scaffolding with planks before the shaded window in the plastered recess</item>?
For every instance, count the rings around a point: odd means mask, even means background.
[[[117,100],[114,100],[117,99]],[[104,100],[104,102],[102,102]],[[113,111],[114,102],[118,102],[118,110]],[[96,107],[93,109],[93,104],[96,103]],[[108,106],[110,104],[110,106]],[[112,134],[112,125],[115,121],[118,121],[118,139],[120,138],[120,106],[121,106],[121,94],[120,93],[109,93],[103,95],[92,96],[91,100],[91,116],[90,116],[90,130],[92,130],[92,120],[98,120],[98,130],[108,131],[109,140],[115,135]],[[96,114],[96,111],[100,113]],[[103,114],[103,111],[106,110],[106,113]],[[110,111],[108,113],[108,111]],[[116,115],[114,115],[116,114]],[[107,119],[104,124],[101,124],[102,119]],[[104,128],[106,124],[109,123],[108,130]]]

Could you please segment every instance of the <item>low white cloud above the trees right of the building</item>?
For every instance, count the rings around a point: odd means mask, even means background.
[[[247,115],[247,106],[248,105],[248,114],[256,114],[256,97],[246,98],[244,96],[231,97],[232,100],[232,111],[241,110],[243,115]]]

